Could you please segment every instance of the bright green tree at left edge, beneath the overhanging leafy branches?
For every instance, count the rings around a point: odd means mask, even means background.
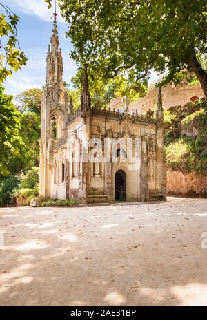
[[[11,155],[17,155],[21,146],[19,136],[20,114],[12,104],[12,96],[4,94],[0,85],[0,175],[7,174]]]

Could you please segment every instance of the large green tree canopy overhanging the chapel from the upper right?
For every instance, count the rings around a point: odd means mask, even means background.
[[[52,0],[45,0],[51,5]],[[87,61],[103,78],[126,73],[142,83],[149,70],[168,70],[162,84],[185,67],[195,72],[207,98],[206,0],[59,0],[79,65]]]

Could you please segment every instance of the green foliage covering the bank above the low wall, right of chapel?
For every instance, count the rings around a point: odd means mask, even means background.
[[[196,111],[193,111],[197,109]],[[184,114],[186,112],[186,116]],[[206,101],[188,107],[164,111],[166,128],[164,153],[167,167],[177,171],[207,175],[207,107]],[[181,137],[181,126],[196,125],[198,135]]]

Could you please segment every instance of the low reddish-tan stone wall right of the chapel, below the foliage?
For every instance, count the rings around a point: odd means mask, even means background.
[[[168,170],[167,193],[168,195],[207,198],[207,177],[195,173]]]

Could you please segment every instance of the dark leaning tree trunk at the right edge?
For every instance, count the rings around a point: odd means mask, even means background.
[[[197,61],[197,56],[194,54],[192,58],[188,61],[188,66],[190,70],[195,72],[202,89],[204,90],[204,95],[207,99],[207,73],[202,69],[199,61]]]

